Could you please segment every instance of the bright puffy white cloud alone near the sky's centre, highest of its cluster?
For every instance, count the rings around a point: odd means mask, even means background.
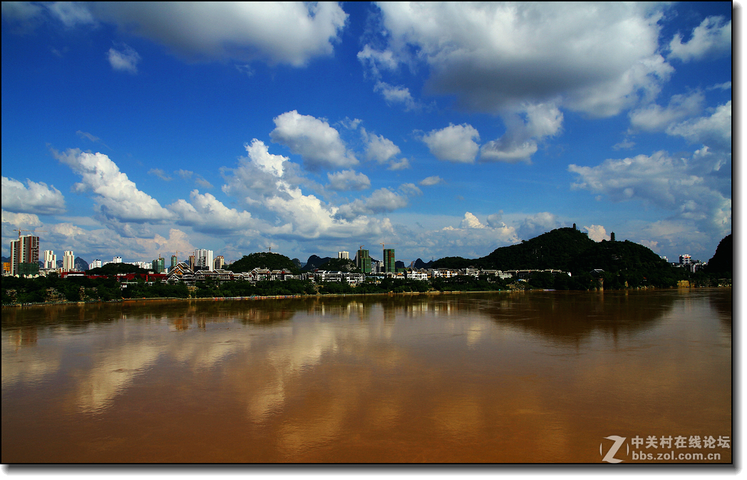
[[[270,132],[275,143],[282,143],[291,152],[301,155],[310,170],[320,167],[345,168],[358,160],[349,152],[335,128],[324,120],[310,115],[300,115],[296,110],[276,116],[276,128]]]

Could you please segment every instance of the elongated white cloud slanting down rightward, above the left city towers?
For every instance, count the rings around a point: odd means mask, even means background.
[[[81,175],[75,184],[76,191],[92,192],[100,214],[118,222],[162,222],[171,219],[172,213],[158,202],[137,190],[137,186],[107,155],[68,149],[64,153],[52,152],[55,158]]]

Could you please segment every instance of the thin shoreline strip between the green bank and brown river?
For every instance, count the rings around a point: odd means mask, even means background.
[[[674,287],[674,288],[635,288],[635,289],[623,289],[623,290],[586,290],[586,292],[604,293],[607,292],[627,292],[630,290],[681,290],[681,289],[701,289],[701,288],[732,288],[732,285],[719,285],[716,287]],[[267,295],[267,296],[214,296],[214,297],[202,297],[202,298],[181,298],[181,297],[152,297],[152,298],[140,298],[140,299],[119,299],[119,300],[86,300],[83,302],[31,302],[31,303],[13,303],[10,305],[2,305],[2,308],[22,308],[22,307],[46,307],[50,305],[92,305],[92,304],[105,304],[105,303],[128,303],[128,302],[154,302],[154,301],[167,301],[167,302],[225,302],[229,300],[267,300],[267,299],[307,299],[307,298],[319,298],[319,297],[344,297],[344,296],[394,296],[394,295],[452,295],[452,294],[464,294],[464,293],[515,293],[515,292],[581,292],[582,290],[552,290],[552,289],[533,289],[533,290],[433,290],[430,292],[382,292],[382,293],[317,293],[316,295]]]

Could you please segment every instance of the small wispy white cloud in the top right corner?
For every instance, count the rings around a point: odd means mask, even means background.
[[[731,20],[725,22],[722,16],[709,16],[692,30],[692,37],[686,43],[682,43],[681,34],[675,34],[669,49],[669,58],[684,62],[727,54],[731,52]]]

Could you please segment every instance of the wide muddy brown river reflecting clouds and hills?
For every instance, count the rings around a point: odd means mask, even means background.
[[[732,358],[731,288],[3,308],[2,463],[729,463]]]

